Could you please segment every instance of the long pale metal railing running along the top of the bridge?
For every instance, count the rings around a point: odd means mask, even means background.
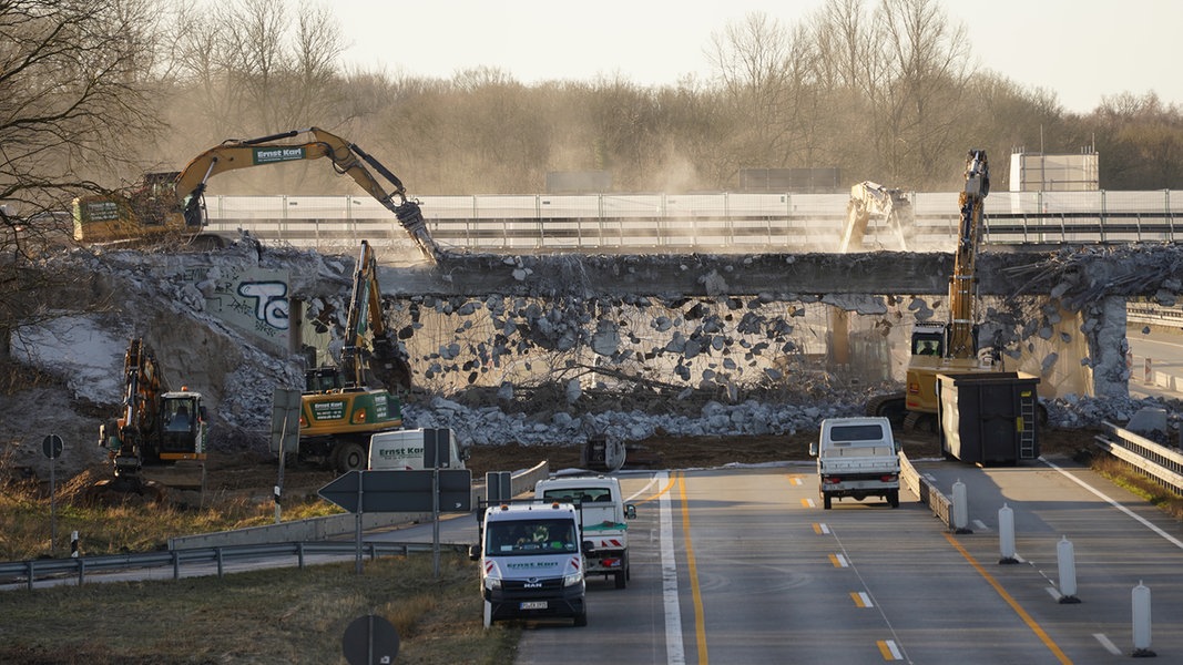
[[[955,241],[957,193],[911,194],[907,250]],[[595,194],[422,196],[432,237],[472,251],[832,251],[846,222],[842,194]],[[1178,209],[1176,209],[1178,208]],[[362,196],[207,196],[211,231],[250,230],[295,246],[408,243],[377,201]],[[996,192],[987,245],[1179,241],[1183,195],[1159,192]],[[899,250],[872,220],[865,250]]]

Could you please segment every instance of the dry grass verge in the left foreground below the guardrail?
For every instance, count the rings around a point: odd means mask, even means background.
[[[377,614],[395,663],[511,663],[521,628],[481,626],[473,563],[431,554],[180,581],[4,592],[0,663],[343,664],[342,635]]]

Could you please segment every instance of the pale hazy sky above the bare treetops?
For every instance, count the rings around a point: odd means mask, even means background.
[[[874,1],[874,0],[868,0]],[[704,51],[728,22],[764,12],[786,26],[822,0],[335,0],[348,64],[450,78],[496,66],[531,84],[616,76],[673,85],[710,75]],[[1101,96],[1143,95],[1183,103],[1179,0],[946,0],[969,31],[974,59],[1026,86],[1054,91],[1069,111]]]

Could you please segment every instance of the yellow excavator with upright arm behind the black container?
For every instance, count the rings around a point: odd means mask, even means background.
[[[905,428],[936,430],[937,374],[1003,370],[998,349],[980,349],[977,340],[975,270],[983,204],[989,193],[985,150],[970,150],[965,187],[957,199],[961,219],[949,279],[949,322],[917,323],[912,328],[905,393],[873,398],[867,403],[868,415],[885,415]]]

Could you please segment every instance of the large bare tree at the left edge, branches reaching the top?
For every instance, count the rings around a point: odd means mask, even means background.
[[[156,15],[150,0],[0,1],[0,354],[49,315],[26,262],[69,241],[71,199],[151,135]]]

